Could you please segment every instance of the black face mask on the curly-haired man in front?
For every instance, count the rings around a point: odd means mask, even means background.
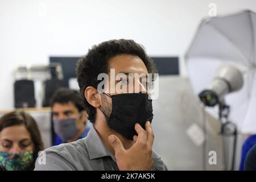
[[[105,93],[104,93],[105,94]],[[143,129],[147,121],[152,122],[152,100],[147,93],[125,93],[110,96],[112,98],[112,113],[108,117],[109,126],[123,137],[133,140],[138,135],[134,129],[135,123],[139,123]]]

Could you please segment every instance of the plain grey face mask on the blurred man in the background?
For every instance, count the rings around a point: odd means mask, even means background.
[[[79,119],[81,115],[79,114]],[[53,119],[54,132],[59,135],[61,140],[67,141],[75,137],[79,129],[76,127],[77,118]]]

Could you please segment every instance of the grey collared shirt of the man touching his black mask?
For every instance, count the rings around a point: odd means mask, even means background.
[[[87,137],[72,143],[49,147],[35,163],[35,171],[69,170],[118,170],[115,156],[104,146],[97,131],[92,127]],[[153,151],[152,170],[167,170],[166,165]],[[45,158],[46,160],[43,160]]]

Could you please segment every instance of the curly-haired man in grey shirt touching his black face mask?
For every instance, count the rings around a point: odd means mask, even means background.
[[[35,170],[167,170],[152,151],[152,100],[143,77],[156,68],[144,48],[134,40],[102,42],[81,57],[76,72],[93,127],[86,138],[45,150],[46,164],[36,162]]]

